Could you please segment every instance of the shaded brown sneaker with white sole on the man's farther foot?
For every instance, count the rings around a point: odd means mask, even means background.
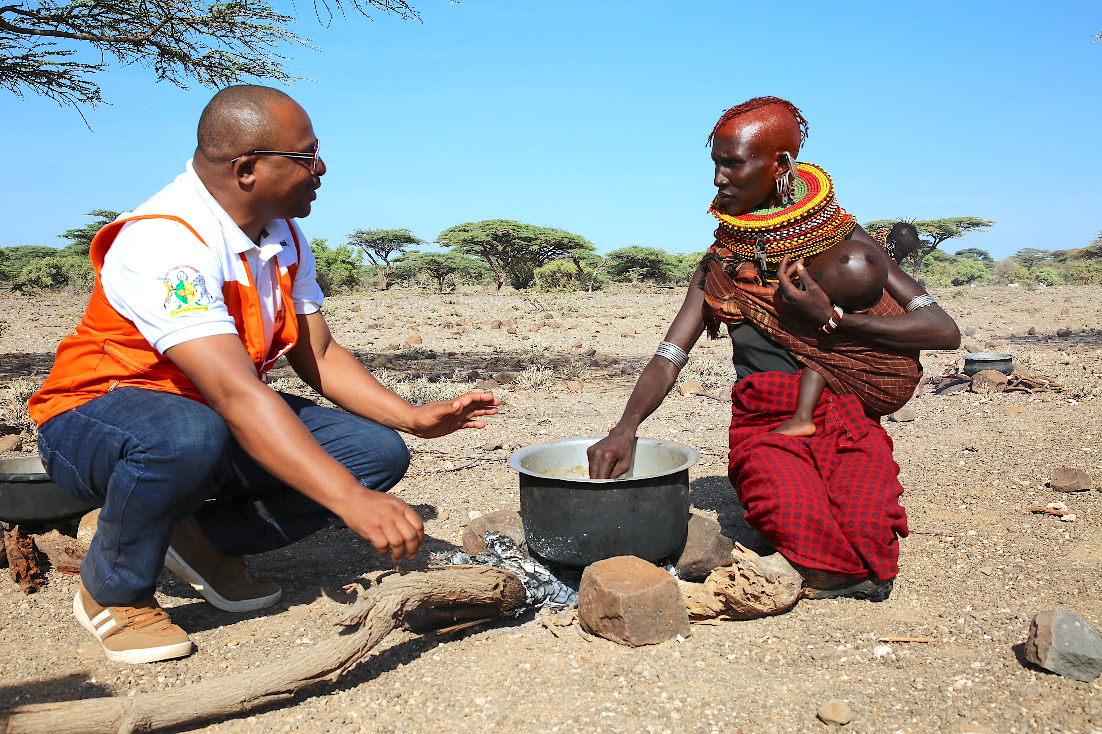
[[[176,523],[164,566],[224,612],[251,612],[271,606],[283,590],[271,581],[250,579],[245,556],[225,556],[188,517]]]

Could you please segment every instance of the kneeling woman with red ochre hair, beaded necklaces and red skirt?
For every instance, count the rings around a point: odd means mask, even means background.
[[[827,172],[797,161],[807,132],[800,110],[776,97],[733,107],[715,124],[715,243],[619,423],[590,448],[590,476],[627,471],[639,424],[704,329],[715,337],[724,324],[738,375],[730,476],[746,521],[800,570],[806,595],[883,601],[907,522],[879,416],[910,397],[915,352],[955,349],[960,331],[894,262],[884,297],[865,313],[843,313],[815,284],[814,258],[827,250],[857,265],[884,251],[839,206]],[[771,432],[792,417],[801,369],[828,384],[815,434]]]

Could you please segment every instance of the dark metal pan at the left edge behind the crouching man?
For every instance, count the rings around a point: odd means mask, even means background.
[[[62,523],[94,510],[50,481],[39,457],[0,459],[0,521]]]

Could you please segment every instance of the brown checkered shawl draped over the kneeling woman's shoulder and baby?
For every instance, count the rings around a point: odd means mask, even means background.
[[[720,322],[757,326],[804,366],[821,374],[840,395],[854,395],[871,415],[895,413],[911,398],[922,368],[918,352],[887,349],[843,331],[824,335],[775,298],[775,287],[758,277],[754,263],[730,250],[712,245],[702,261],[705,267],[704,321],[709,333],[719,333]],[[873,316],[899,316],[903,307],[884,292],[869,311]]]

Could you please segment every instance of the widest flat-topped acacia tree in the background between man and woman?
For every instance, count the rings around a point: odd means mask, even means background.
[[[453,252],[478,258],[494,273],[495,291],[516,273],[522,278],[537,277],[537,267],[565,255],[593,252],[593,243],[580,234],[553,227],[536,227],[511,219],[465,222],[445,229],[436,243]]]

